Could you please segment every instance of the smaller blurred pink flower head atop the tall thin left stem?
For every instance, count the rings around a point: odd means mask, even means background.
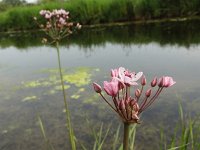
[[[53,11],[41,10],[40,15],[46,20],[45,24],[39,26],[54,40],[60,40],[73,32],[74,28],[80,29],[79,23],[70,22],[69,12],[64,9]],[[37,20],[36,17],[34,17]]]

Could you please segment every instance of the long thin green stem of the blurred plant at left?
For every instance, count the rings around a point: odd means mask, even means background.
[[[70,112],[69,112],[69,108],[68,108],[66,92],[65,92],[65,87],[64,87],[64,81],[63,81],[63,75],[62,75],[62,68],[61,68],[61,62],[60,62],[60,50],[59,50],[58,42],[56,42],[56,50],[57,50],[57,55],[58,55],[60,81],[61,81],[61,86],[62,86],[63,101],[64,101],[64,105],[65,105],[65,113],[66,113],[67,127],[69,130],[69,139],[70,139],[70,143],[71,143],[71,149],[76,150],[74,132],[73,132],[72,125],[71,125]]]

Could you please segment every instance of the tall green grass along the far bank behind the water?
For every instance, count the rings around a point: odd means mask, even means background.
[[[64,8],[73,21],[84,25],[198,16],[199,0],[73,0],[60,3],[43,3],[18,6],[0,13],[0,30],[36,29],[33,17],[39,17],[41,9]],[[1,7],[0,7],[1,8]],[[40,20],[40,18],[39,18]]]

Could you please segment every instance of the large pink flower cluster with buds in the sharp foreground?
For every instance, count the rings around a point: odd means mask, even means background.
[[[134,96],[131,96],[131,87],[137,86],[140,80],[141,88],[137,88]],[[164,88],[174,85],[176,82],[172,77],[163,76],[159,79],[156,77],[151,81],[150,88],[144,92],[147,81],[142,72],[130,72],[120,67],[111,70],[111,81],[104,81],[103,89],[107,95],[111,96],[111,104],[102,94],[102,88],[97,83],[93,83],[94,90],[108,103],[108,105],[119,114],[123,122],[138,123],[139,114],[147,109],[159,96]],[[153,88],[157,90],[153,93]]]

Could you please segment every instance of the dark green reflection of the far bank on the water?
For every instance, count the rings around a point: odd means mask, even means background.
[[[102,46],[107,42],[120,43],[125,46],[133,43],[156,42],[162,46],[170,44],[190,47],[200,41],[199,22],[197,20],[84,29],[64,40],[63,45],[77,44],[85,51],[93,46]],[[0,34],[0,46],[5,48],[12,45],[21,50],[28,50],[27,47],[42,45],[41,34],[33,32]]]

